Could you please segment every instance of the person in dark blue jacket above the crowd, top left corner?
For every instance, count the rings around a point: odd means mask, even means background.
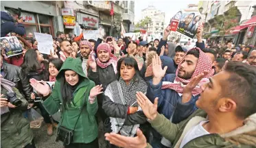
[[[16,10],[1,11],[1,37],[10,32],[15,32],[21,36],[25,35],[23,18],[19,19],[19,12]]]

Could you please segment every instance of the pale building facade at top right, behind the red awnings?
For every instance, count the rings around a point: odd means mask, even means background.
[[[211,40],[215,41],[231,41],[235,44],[246,43],[248,41],[246,38],[248,27],[243,27],[238,32],[234,32],[234,28],[231,28],[230,32],[220,36],[218,29],[216,29],[216,16],[225,16],[231,8],[235,8],[237,9],[237,17],[232,21],[237,25],[242,25],[252,17],[253,5],[256,5],[256,1],[200,1],[198,8],[203,8],[202,17],[205,18],[205,33],[209,35]]]

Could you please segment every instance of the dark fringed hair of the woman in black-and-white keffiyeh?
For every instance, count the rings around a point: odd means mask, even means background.
[[[117,79],[120,78],[120,69],[121,69],[121,64],[124,62],[124,64],[126,66],[132,66],[133,68],[135,68],[135,80],[140,81],[141,75],[139,74],[139,66],[137,64],[137,61],[135,60],[135,58],[131,58],[131,57],[125,57],[125,58],[121,58],[118,60],[117,62]]]

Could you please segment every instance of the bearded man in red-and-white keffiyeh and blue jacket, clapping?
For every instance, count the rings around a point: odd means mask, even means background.
[[[176,74],[165,75],[167,67],[162,69],[158,56],[152,60],[153,79],[149,82],[147,97],[154,102],[159,98],[158,112],[163,114],[172,123],[179,123],[192,114],[197,108],[195,102],[202,91],[198,86],[191,87],[191,80],[202,73],[204,78],[199,82],[209,82],[209,77],[214,73],[211,59],[199,48],[189,50],[181,64],[178,65]],[[191,83],[189,83],[191,82]],[[171,147],[172,143],[152,129],[152,147]]]

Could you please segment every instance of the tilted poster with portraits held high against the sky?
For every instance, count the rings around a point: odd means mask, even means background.
[[[194,38],[196,36],[198,26],[202,24],[202,16],[199,12],[179,11],[171,18],[170,23],[173,19],[179,20],[176,32],[189,38]]]

